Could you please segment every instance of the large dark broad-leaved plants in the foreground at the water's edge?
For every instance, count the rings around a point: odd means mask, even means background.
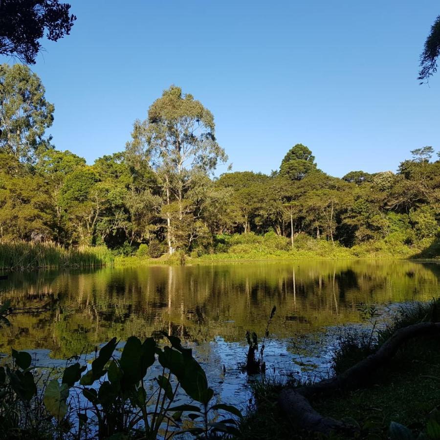
[[[182,347],[180,339],[175,336],[165,336],[171,346],[163,349],[153,338],[141,342],[131,336],[120,358],[114,356],[118,341],[116,338],[111,339],[100,349],[85,374],[86,366],[77,362],[65,369],[61,384],[56,378],[46,382],[42,403],[38,400],[34,374],[30,368],[30,355],[13,351],[15,368],[0,368],[2,432],[7,436],[14,429],[27,428],[21,426],[21,419],[11,424],[7,414],[11,409],[33,399],[36,414],[43,414],[46,420],[53,418],[52,423],[57,427],[58,435],[51,437],[58,439],[69,438],[74,432],[77,438],[83,438],[80,433],[86,434],[88,429],[95,431],[99,439],[139,433],[146,438],[156,439],[159,432],[164,438],[179,433],[189,433],[204,439],[218,433],[239,435],[241,412],[231,405],[212,404],[214,391],[208,387],[206,374],[192,356],[192,351]],[[162,374],[155,378],[158,387],[152,390],[146,387],[146,374],[154,364],[156,355]],[[200,405],[173,406],[179,388]],[[78,400],[79,392],[88,404]],[[74,421],[69,416],[73,410],[72,403],[76,412]],[[44,407],[38,406],[41,404]],[[95,418],[89,417],[88,413],[92,413]],[[225,413],[229,417],[218,420],[218,415]],[[193,427],[187,427],[184,414],[188,414],[188,418],[195,422]],[[76,428],[74,423],[78,424]],[[59,428],[62,426],[68,427],[65,436],[60,436]]]

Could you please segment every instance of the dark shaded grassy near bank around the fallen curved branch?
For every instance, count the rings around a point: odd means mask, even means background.
[[[360,334],[355,339],[351,336],[342,342],[341,350],[333,359],[335,370],[342,372],[371,354],[398,328],[436,320],[437,314],[438,308],[430,307],[405,311],[387,329],[375,334],[373,347],[370,346],[369,338]],[[413,431],[414,438],[417,438],[419,433],[426,433],[430,419],[440,421],[437,415],[437,407],[440,406],[439,349],[438,337],[409,341],[390,364],[372,372],[366,387],[352,392],[341,391],[311,403],[324,416],[345,419],[357,425],[360,431],[356,438],[389,439],[389,427],[393,421],[407,426]],[[244,438],[316,438],[316,434],[296,429],[295,422],[287,420],[280,413],[277,399],[285,385],[269,379],[254,387],[256,404],[242,426]],[[289,385],[301,384],[293,380]],[[292,435],[292,432],[295,434]],[[331,438],[351,436],[334,435]]]

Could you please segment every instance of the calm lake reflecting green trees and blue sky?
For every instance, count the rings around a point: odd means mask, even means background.
[[[396,304],[437,297],[439,284],[440,264],[407,261],[15,272],[0,280],[1,303],[9,298],[13,307],[52,307],[11,317],[11,326],[0,330],[0,352],[29,350],[39,365],[64,365],[60,359],[90,353],[113,336],[125,340],[164,330],[195,348],[214,388],[221,384],[219,393],[227,400],[246,380],[238,366],[245,358],[245,332],[263,335],[274,305],[268,367],[305,371],[305,365],[313,369],[329,360],[331,341],[324,335],[365,322],[363,304],[387,316]]]

